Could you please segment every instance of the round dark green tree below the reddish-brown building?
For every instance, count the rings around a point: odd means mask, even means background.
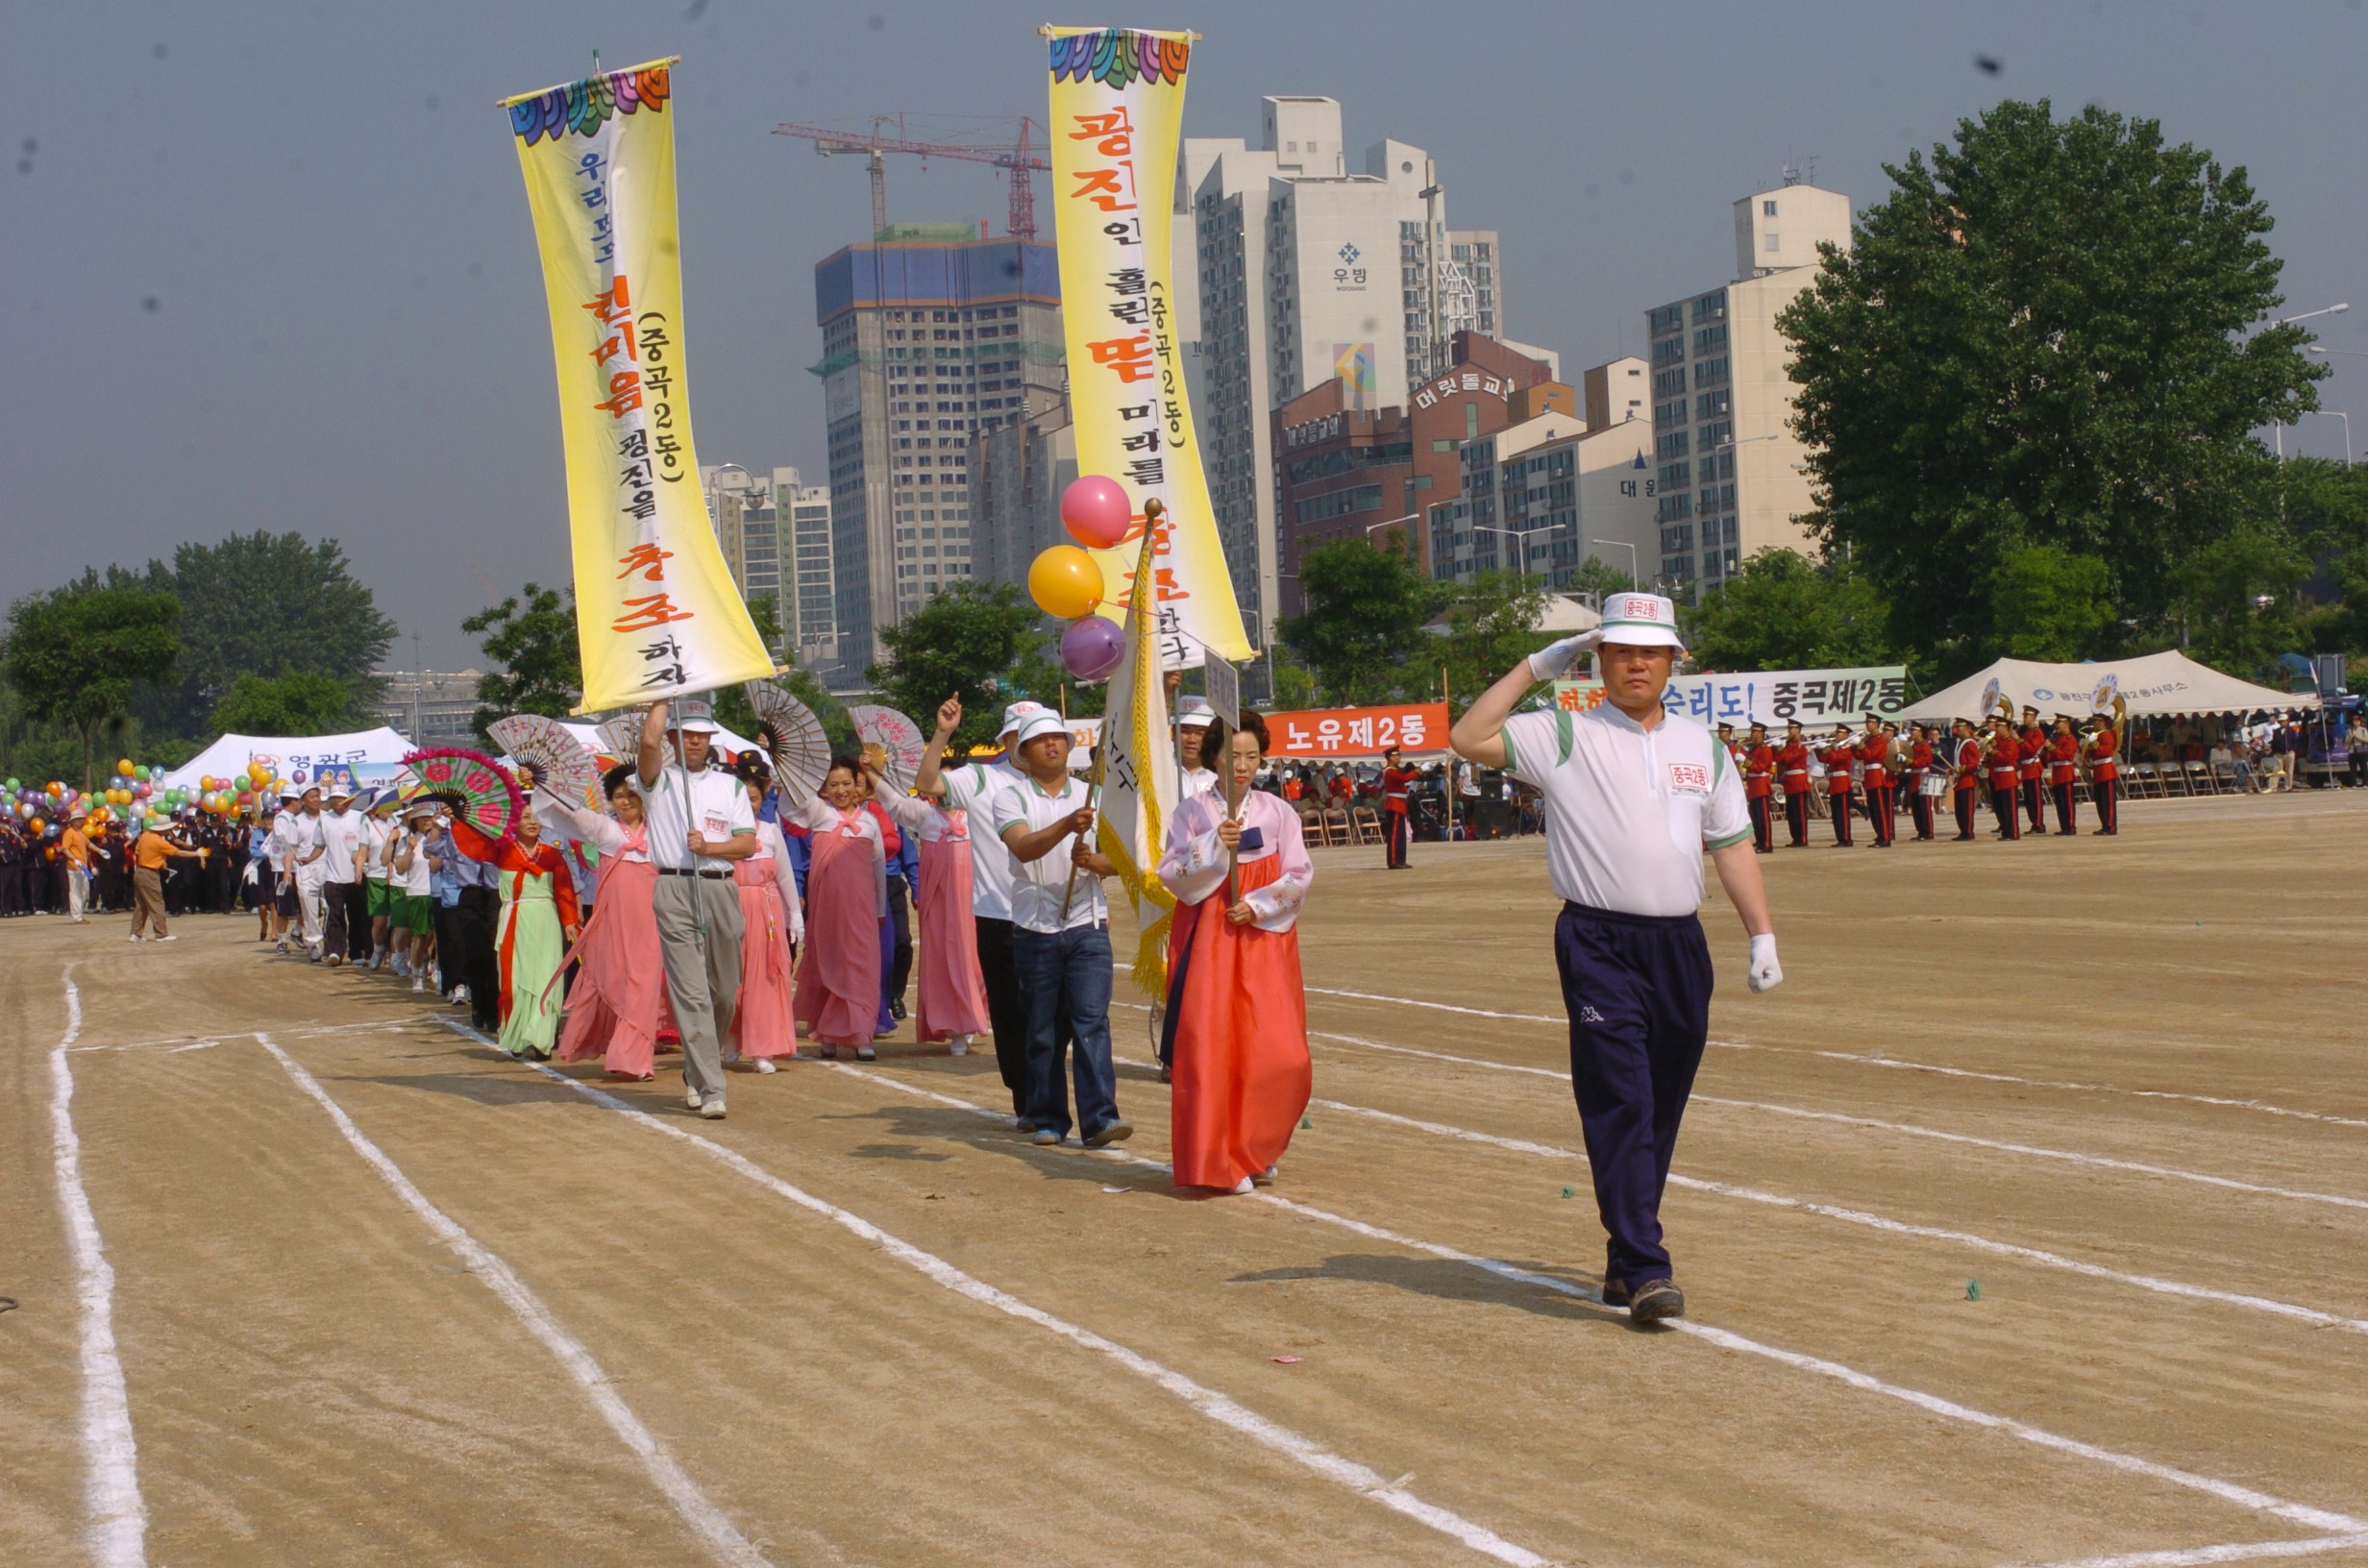
[[[1364,540],[1319,545],[1300,557],[1298,616],[1276,628],[1283,647],[1317,677],[1331,703],[1376,703],[1430,689],[1437,673],[1423,623],[1447,609],[1452,590],[1433,583],[1395,550]]]

